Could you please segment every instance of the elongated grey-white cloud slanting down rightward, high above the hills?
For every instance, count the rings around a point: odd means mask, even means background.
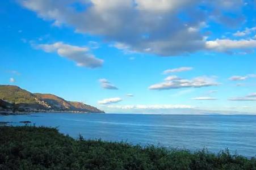
[[[55,42],[53,44],[39,44],[35,46],[47,53],[57,52],[61,57],[66,57],[77,63],[77,66],[96,68],[101,67],[103,60],[96,58],[89,52],[89,48]]]

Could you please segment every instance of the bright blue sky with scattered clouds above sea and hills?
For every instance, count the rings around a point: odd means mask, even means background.
[[[0,84],[109,113],[256,113],[256,2],[0,2]]]

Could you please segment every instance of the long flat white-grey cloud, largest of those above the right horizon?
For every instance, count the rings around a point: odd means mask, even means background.
[[[165,79],[165,82],[153,84],[149,87],[150,90],[169,90],[175,88],[188,88],[188,87],[208,87],[208,86],[217,86],[219,83],[215,81],[215,78],[208,76],[198,76],[191,80],[175,78],[175,79]]]

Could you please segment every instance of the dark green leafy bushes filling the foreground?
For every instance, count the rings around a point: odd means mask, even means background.
[[[73,139],[54,128],[0,127],[0,169],[256,169],[255,158]]]

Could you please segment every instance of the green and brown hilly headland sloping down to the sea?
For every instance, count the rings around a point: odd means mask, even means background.
[[[104,113],[99,109],[76,101],[66,101],[52,94],[32,94],[18,86],[0,85],[0,111],[86,112]]]

